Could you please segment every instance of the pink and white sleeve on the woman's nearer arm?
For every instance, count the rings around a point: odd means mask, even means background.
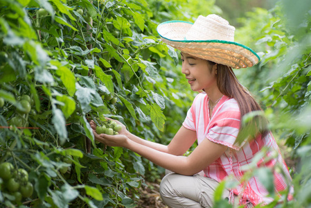
[[[220,106],[210,122],[206,135],[210,141],[235,150],[239,150],[245,144],[245,141],[242,144],[236,143],[240,130],[240,109],[234,99]]]

